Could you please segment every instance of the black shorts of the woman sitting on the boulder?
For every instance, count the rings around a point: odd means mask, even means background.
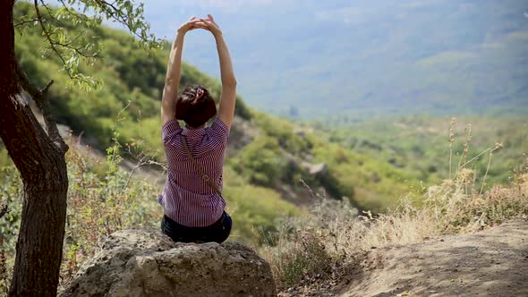
[[[161,231],[170,237],[173,242],[224,242],[229,233],[233,221],[225,211],[217,222],[207,227],[188,227],[176,223],[168,216],[161,220]]]

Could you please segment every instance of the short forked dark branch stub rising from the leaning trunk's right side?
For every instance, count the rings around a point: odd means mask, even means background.
[[[48,90],[53,85],[54,81],[47,82],[46,86],[42,89],[37,89],[35,86],[31,85],[30,80],[26,76],[26,73],[21,72],[20,67],[17,66],[17,73],[21,81],[22,89],[30,93],[31,97],[37,103],[38,109],[42,112],[44,116],[44,123],[46,123],[47,136],[55,143],[55,146],[59,148],[62,152],[68,150],[68,145],[64,142],[57,125],[55,122],[55,115],[51,111],[51,105],[49,104]]]

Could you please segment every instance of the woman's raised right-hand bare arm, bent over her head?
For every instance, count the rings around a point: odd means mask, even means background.
[[[234,101],[236,100],[236,79],[234,78],[233,63],[222,31],[213,17],[208,14],[207,19],[200,19],[217,40],[218,58],[220,60],[220,76],[222,80],[222,95],[220,95],[220,109],[218,117],[227,128],[231,128],[234,117]]]

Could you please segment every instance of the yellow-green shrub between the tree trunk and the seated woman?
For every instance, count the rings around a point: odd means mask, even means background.
[[[118,135],[115,134],[115,139]],[[132,226],[157,226],[162,216],[155,208],[158,189],[138,179],[134,171],[119,165],[121,145],[115,141],[106,150],[106,173],[98,174],[100,161],[90,157],[90,148],[70,143],[66,158],[70,188],[64,235],[62,281],[67,281],[85,259],[93,256],[117,230]]]

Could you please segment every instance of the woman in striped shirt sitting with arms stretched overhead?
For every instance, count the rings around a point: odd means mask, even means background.
[[[202,86],[178,96],[183,38],[190,30],[209,30],[217,42],[222,94],[215,101]],[[213,17],[183,23],[169,57],[161,100],[162,138],[168,163],[165,190],[159,197],[165,216],[161,230],[175,242],[224,242],[232,220],[222,198],[224,151],[233,123],[236,80],[231,57]],[[206,123],[217,115],[210,127]],[[182,129],[177,120],[185,122]]]

